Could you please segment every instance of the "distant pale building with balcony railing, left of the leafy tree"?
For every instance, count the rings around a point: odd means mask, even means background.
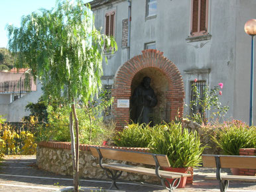
[[[40,83],[30,79],[25,82],[26,69],[17,72],[0,72],[0,115],[8,122],[20,122],[21,119],[30,114],[25,111],[29,102],[36,103],[42,95]]]

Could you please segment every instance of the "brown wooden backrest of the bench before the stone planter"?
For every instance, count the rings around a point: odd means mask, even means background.
[[[159,166],[170,167],[170,163],[166,155],[90,146],[92,155],[96,156],[97,158],[99,158],[97,148],[99,148],[103,158],[155,166],[154,156],[156,156]]]

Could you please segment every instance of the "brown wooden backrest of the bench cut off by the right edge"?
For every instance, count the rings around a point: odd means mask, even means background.
[[[216,156],[202,155],[203,166],[216,168]],[[256,156],[219,156],[221,168],[256,169]]]

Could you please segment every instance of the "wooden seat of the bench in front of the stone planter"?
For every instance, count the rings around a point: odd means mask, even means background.
[[[137,166],[129,166],[126,164],[117,164],[117,163],[102,164],[102,166],[103,168],[108,168],[108,169],[115,169],[115,170],[131,172],[131,173],[142,173],[145,175],[157,176],[155,173],[155,169],[141,168]],[[177,172],[162,171],[162,170],[159,171],[159,174],[164,178],[170,178],[170,179],[191,176],[191,174],[188,174],[188,173],[177,173]]]

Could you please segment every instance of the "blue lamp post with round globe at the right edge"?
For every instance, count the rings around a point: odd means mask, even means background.
[[[254,65],[254,36],[256,34],[256,19],[250,19],[245,23],[245,32],[251,36],[251,87],[250,87],[250,113],[249,126],[253,122],[253,65]]]

